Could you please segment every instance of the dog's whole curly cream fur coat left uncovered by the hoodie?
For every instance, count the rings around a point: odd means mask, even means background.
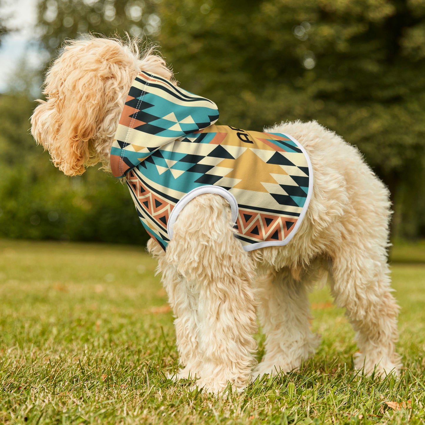
[[[164,60],[135,42],[87,37],[65,44],[45,79],[46,101],[32,134],[68,176],[101,163],[109,152],[130,85],[138,72],[172,80]],[[164,252],[148,250],[173,308],[182,369],[199,388],[242,390],[252,376],[297,369],[319,339],[309,328],[307,294],[329,270],[331,292],[357,332],[355,367],[397,374],[398,307],[391,295],[387,246],[388,190],[356,148],[317,122],[286,122],[267,131],[292,135],[312,162],[314,190],[292,241],[245,252],[234,237],[227,201],[199,195],[176,221]],[[196,220],[193,220],[196,217]],[[256,365],[256,310],[266,353]]]

